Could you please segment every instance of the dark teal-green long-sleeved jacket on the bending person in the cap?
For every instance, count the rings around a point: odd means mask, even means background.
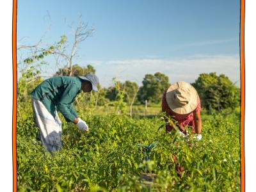
[[[57,109],[68,122],[74,122],[78,115],[72,102],[81,92],[81,83],[79,77],[51,77],[40,83],[31,97],[40,100],[52,116],[55,117]]]

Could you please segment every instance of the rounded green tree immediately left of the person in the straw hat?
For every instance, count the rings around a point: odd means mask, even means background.
[[[161,72],[156,72],[154,75],[146,74],[142,84],[138,92],[138,100],[141,103],[144,103],[145,100],[154,103],[160,102],[164,90],[170,86],[168,76]]]

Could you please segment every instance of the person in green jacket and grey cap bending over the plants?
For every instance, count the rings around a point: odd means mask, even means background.
[[[72,102],[76,95],[83,92],[97,92],[99,79],[92,73],[79,77],[51,77],[40,83],[31,92],[35,123],[40,131],[40,139],[48,152],[62,147],[61,120],[57,111],[67,122],[76,124],[77,129],[89,131],[88,125],[79,118]]]

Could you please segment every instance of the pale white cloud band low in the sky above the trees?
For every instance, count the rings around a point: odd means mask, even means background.
[[[194,82],[201,73],[217,72],[225,74],[233,82],[240,81],[240,58],[232,56],[195,55],[186,58],[138,60],[85,61],[95,67],[102,86],[109,86],[112,78],[130,80],[141,84],[145,74],[162,72],[169,77],[170,83],[176,81]]]

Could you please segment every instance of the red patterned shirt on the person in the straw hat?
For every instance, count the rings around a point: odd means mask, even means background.
[[[192,132],[195,132],[195,122],[194,122],[194,116],[193,116],[193,112],[198,112],[201,109],[201,103],[200,103],[200,98],[198,97],[198,104],[197,107],[194,111],[192,111],[191,113],[188,114],[184,114],[184,115],[180,115],[178,113],[173,112],[166,101],[166,91],[167,89],[164,91],[163,93],[163,97],[162,97],[162,111],[166,113],[166,115],[168,116],[172,116],[175,120],[178,121],[179,123],[179,128],[181,132],[184,132],[184,134],[186,134],[186,130],[184,129],[185,126],[190,126],[192,128]],[[173,127],[171,125],[166,125],[166,131],[172,131]]]

